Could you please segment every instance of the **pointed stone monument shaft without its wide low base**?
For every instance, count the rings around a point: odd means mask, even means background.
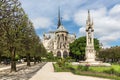
[[[93,22],[91,22],[90,12],[88,10],[88,19],[86,22],[86,49],[85,49],[86,62],[95,61],[94,35],[93,34],[94,34]]]

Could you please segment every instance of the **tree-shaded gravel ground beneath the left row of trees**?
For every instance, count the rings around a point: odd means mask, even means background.
[[[27,67],[26,65],[17,67],[17,72],[10,73],[10,69],[0,71],[0,80],[29,80],[46,63],[39,63]]]

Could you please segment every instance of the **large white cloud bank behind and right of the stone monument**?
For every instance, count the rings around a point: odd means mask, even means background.
[[[110,46],[108,44],[109,42],[120,39],[120,19],[116,19],[120,16],[113,16],[113,14],[117,14],[118,12],[120,13],[120,5],[114,6],[109,11],[105,7],[91,10],[91,18],[94,19],[94,35],[100,40],[100,42],[103,43],[104,47]],[[80,36],[85,35],[86,19],[87,10],[79,10],[74,15],[74,21],[76,22],[76,24],[82,26],[79,29]]]

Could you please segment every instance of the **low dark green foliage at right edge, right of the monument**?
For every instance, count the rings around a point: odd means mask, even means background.
[[[120,46],[101,49],[97,56],[104,62],[120,63]]]

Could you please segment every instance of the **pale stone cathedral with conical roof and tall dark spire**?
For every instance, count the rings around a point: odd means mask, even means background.
[[[61,23],[59,10],[57,29],[44,33],[42,42],[48,52],[52,52],[54,56],[65,58],[69,56],[69,43],[72,43],[75,39],[76,35],[69,34]]]

